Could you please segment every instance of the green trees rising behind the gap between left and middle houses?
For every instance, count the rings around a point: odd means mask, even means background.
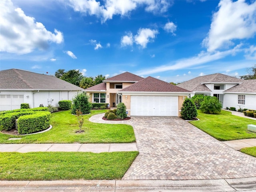
[[[106,77],[103,75],[97,75],[96,77],[84,77],[82,72],[76,69],[69,71],[58,69],[54,76],[83,89],[100,84],[103,80],[106,79]]]

